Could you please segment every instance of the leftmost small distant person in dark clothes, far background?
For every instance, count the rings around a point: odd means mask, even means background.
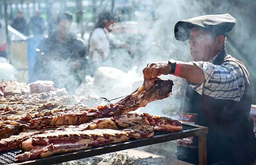
[[[17,18],[13,20],[11,26],[21,34],[28,35],[27,23],[21,11],[18,11]]]

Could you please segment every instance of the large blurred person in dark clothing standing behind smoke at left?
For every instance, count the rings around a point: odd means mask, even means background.
[[[73,17],[69,12],[57,16],[57,31],[41,41],[36,49],[33,75],[37,80],[52,80],[56,88],[73,94],[86,76],[84,41],[70,32]]]

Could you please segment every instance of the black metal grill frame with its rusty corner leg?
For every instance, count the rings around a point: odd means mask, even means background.
[[[83,159],[87,157],[97,156],[101,154],[108,154],[111,152],[122,151],[131,148],[137,148],[141,146],[148,146],[157,143],[163,143],[167,141],[188,138],[192,136],[198,136],[198,148],[199,148],[199,164],[207,164],[206,161],[206,134],[208,133],[208,128],[181,122],[183,125],[182,131],[177,132],[159,132],[156,131],[152,138],[145,139],[130,139],[128,141],[114,143],[104,146],[92,147],[90,149],[79,150],[70,153],[56,154],[46,158],[39,158],[31,161],[20,162],[14,158],[15,152],[22,153],[21,150],[10,150],[0,153],[0,165],[45,165],[45,164],[57,164],[61,162],[73,161],[78,159]],[[185,128],[184,128],[185,127]],[[186,129],[187,128],[187,129]],[[201,140],[201,142],[200,142]],[[200,158],[201,157],[201,158]],[[5,160],[4,160],[5,159]],[[8,160],[10,159],[10,160]],[[201,161],[200,161],[201,160]],[[3,163],[5,161],[5,163]],[[51,163],[49,163],[51,162]]]

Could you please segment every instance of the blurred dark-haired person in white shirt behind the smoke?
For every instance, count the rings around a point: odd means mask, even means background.
[[[109,32],[112,32],[115,18],[111,12],[104,11],[100,13],[98,21],[94,26],[89,38],[89,52],[94,64],[94,69],[102,65],[102,62],[110,55],[110,50],[114,48],[127,49],[132,53],[128,45],[119,40],[110,40]]]

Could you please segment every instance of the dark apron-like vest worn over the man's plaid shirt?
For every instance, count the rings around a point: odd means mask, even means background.
[[[213,64],[221,65],[232,61],[243,70],[245,93],[239,102],[227,99],[214,99],[200,95],[186,85],[186,94],[181,101],[179,120],[208,127],[208,164],[252,165],[256,158],[256,139],[253,132],[251,111],[251,86],[249,74],[243,63],[223,50]],[[181,161],[198,164],[197,137],[177,141],[177,155]]]

